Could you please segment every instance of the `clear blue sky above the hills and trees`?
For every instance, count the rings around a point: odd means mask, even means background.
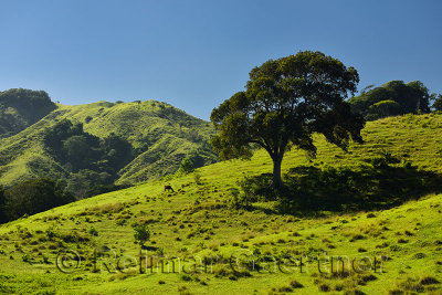
[[[0,0],[0,91],[62,104],[157,99],[208,119],[253,66],[322,51],[359,89],[420,80],[442,93],[442,1]]]

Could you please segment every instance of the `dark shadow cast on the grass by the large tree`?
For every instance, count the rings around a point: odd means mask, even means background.
[[[277,212],[303,215],[316,215],[319,211],[388,209],[429,193],[442,192],[442,175],[409,166],[375,168],[361,165],[324,169],[299,166],[284,176],[286,187],[280,191],[269,187],[270,179],[263,181],[270,177],[246,178],[242,186],[253,189],[245,193],[254,199],[277,199]]]

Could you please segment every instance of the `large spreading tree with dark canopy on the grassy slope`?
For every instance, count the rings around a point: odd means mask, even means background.
[[[284,152],[294,146],[315,157],[314,133],[343,149],[350,139],[362,143],[364,118],[345,102],[358,82],[354,67],[320,52],[270,60],[250,72],[245,92],[212,110],[219,130],[212,146],[222,159],[250,158],[253,145],[263,147],[273,160],[273,185],[281,189]]]

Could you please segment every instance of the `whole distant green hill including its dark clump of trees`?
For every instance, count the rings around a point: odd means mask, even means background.
[[[23,106],[20,114],[31,118]],[[96,185],[176,172],[186,157],[196,167],[218,160],[208,144],[214,134],[210,123],[156,101],[59,105],[30,125],[33,120],[0,139],[0,185],[48,177],[82,194]]]

